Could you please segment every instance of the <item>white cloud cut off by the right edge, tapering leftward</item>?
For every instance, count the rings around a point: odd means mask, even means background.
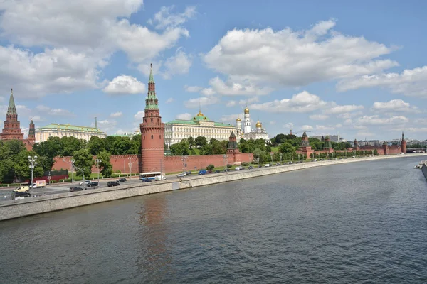
[[[372,74],[372,73],[367,73]],[[337,89],[344,92],[362,87],[384,87],[395,94],[412,97],[427,97],[427,66],[404,70],[399,73],[362,75],[340,82]]]

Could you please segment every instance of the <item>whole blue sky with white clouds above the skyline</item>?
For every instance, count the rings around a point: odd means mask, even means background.
[[[427,1],[0,1],[0,119],[136,131],[201,111],[270,137],[427,138]],[[2,124],[2,123],[1,123]],[[3,126],[0,125],[2,128]]]

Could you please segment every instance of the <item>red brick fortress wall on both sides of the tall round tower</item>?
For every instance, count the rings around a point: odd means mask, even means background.
[[[70,160],[72,157],[56,157],[55,163],[53,164],[53,170],[68,169],[71,170]],[[94,157],[95,158],[95,157]],[[137,155],[112,155],[110,163],[112,164],[112,170],[120,170],[122,173],[129,173],[129,158],[132,161],[132,173],[139,173],[139,158]],[[65,159],[65,162],[63,161]],[[250,163],[253,159],[252,153],[241,153],[240,162]],[[66,163],[68,162],[68,163]],[[227,163],[233,164],[233,155],[228,155]],[[236,161],[237,162],[237,161]],[[215,166],[222,166],[224,164],[223,155],[189,155],[186,160],[186,170],[194,170],[194,167],[206,168],[207,165],[213,164]],[[182,170],[181,156],[165,156],[163,169],[166,173],[179,172]],[[92,168],[93,173],[97,173],[95,165]]]

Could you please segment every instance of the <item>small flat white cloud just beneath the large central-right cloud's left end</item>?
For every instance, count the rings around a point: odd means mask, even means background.
[[[225,96],[231,95],[264,95],[270,94],[273,91],[270,87],[258,87],[256,84],[253,84],[249,81],[243,82],[223,82],[219,77],[214,77],[209,80],[209,85],[211,89],[218,94],[223,94]]]

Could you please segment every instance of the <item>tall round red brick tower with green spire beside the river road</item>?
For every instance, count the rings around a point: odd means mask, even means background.
[[[148,94],[145,99],[144,119],[141,129],[141,171],[164,173],[164,123],[160,116],[159,100],[150,65]]]

